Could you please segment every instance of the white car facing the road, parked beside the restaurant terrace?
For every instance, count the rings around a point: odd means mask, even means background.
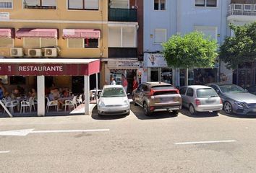
[[[98,115],[129,115],[129,99],[121,85],[105,85],[97,106]]]

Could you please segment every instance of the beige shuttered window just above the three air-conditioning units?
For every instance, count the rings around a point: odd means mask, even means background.
[[[57,45],[56,38],[24,37],[24,48],[49,48]]]

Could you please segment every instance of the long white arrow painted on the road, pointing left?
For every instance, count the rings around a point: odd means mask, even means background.
[[[9,130],[0,131],[0,136],[27,136],[29,133],[76,133],[76,132],[103,132],[109,129],[90,129],[90,130],[38,130],[23,129],[23,130]]]

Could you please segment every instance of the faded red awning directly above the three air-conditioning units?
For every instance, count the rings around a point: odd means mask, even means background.
[[[16,32],[16,37],[47,37],[58,38],[57,29],[37,29],[37,28],[20,28]]]

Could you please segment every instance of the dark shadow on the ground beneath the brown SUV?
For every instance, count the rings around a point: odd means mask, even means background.
[[[131,105],[131,110],[135,116],[140,120],[152,120],[152,119],[163,119],[170,117],[177,117],[173,112],[153,112],[152,115],[146,116],[143,112],[142,107]]]

